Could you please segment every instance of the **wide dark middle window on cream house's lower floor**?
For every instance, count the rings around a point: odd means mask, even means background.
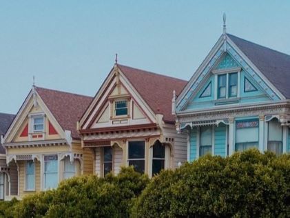
[[[128,142],[128,164],[137,172],[145,171],[145,141]]]

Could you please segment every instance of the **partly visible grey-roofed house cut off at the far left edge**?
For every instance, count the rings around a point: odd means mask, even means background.
[[[3,136],[14,119],[14,115],[0,113],[0,201],[8,199],[10,194],[17,191],[17,166],[6,164],[6,150],[2,145]]]

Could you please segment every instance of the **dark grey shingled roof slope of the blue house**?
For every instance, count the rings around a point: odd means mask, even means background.
[[[290,99],[290,55],[227,34],[273,86]]]

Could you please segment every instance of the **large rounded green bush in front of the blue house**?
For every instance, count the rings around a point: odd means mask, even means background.
[[[206,156],[154,177],[132,217],[290,216],[290,156]]]

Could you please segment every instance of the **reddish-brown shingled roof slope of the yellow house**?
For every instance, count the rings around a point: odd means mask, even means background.
[[[76,132],[76,121],[83,115],[93,98],[40,87],[35,87],[35,90],[61,128],[70,130],[72,138],[79,139],[79,134]]]

